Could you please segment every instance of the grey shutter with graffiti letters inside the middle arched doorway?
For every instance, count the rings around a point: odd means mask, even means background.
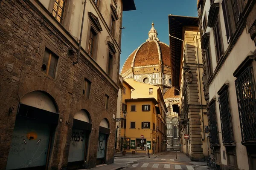
[[[73,127],[70,139],[68,162],[84,160],[85,139],[84,130]]]

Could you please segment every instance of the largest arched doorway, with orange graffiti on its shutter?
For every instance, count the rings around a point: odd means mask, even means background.
[[[30,92],[20,99],[6,170],[46,169],[57,112],[55,102],[45,92]]]

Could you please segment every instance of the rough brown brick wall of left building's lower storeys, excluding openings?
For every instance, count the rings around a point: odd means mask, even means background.
[[[89,137],[87,167],[95,167],[99,124],[107,118],[108,138],[106,163],[113,162],[118,89],[92,63],[77,53],[68,54],[71,43],[29,1],[0,2],[0,169],[5,169],[20,98],[41,90],[54,99],[60,118],[50,151],[50,169],[67,166],[73,116],[80,109],[90,113],[93,130]],[[45,48],[58,55],[55,79],[41,71]],[[76,49],[76,47],[74,47]],[[77,49],[76,49],[77,50]],[[90,98],[82,97],[84,77],[91,81]],[[105,109],[105,94],[110,96]],[[65,122],[70,124],[65,124]]]

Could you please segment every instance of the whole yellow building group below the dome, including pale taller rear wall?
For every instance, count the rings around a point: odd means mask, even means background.
[[[131,87],[134,90],[131,90]],[[124,128],[124,119],[119,123],[119,127],[121,128],[119,130],[119,138],[121,141],[124,137],[128,140],[129,146],[127,151],[129,151],[132,144],[136,150],[141,150],[144,147],[144,145],[140,147],[142,144],[140,141],[141,135],[145,136],[146,139],[143,143],[150,146],[150,153],[166,151],[167,108],[160,88],[128,78],[123,83],[123,93],[124,90],[131,93],[127,94],[125,92],[122,95],[122,111],[125,110],[127,116],[126,128]],[[143,109],[149,110],[145,111]],[[123,118],[122,112],[120,113],[120,117]],[[144,126],[148,128],[144,128]],[[122,147],[120,151],[122,151]],[[145,150],[142,149],[141,152],[145,152]]]

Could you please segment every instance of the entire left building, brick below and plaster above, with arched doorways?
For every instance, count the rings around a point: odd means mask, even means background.
[[[135,5],[83,2],[0,2],[0,169],[113,163],[119,28]]]

